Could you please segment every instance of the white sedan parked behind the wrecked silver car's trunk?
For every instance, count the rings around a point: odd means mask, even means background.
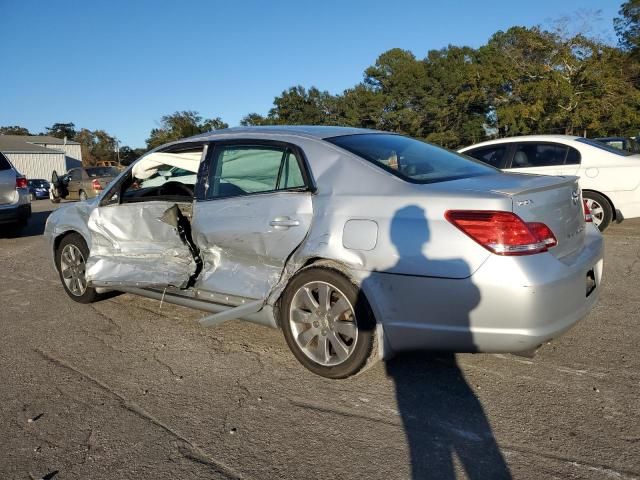
[[[567,135],[501,138],[459,152],[509,172],[579,176],[601,231],[612,221],[640,217],[640,155]]]

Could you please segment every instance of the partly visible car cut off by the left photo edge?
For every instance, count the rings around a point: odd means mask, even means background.
[[[0,229],[25,226],[30,216],[27,179],[0,153]]]

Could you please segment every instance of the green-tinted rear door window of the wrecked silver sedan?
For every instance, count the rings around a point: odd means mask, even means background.
[[[273,192],[305,186],[297,156],[288,148],[216,148],[207,198]]]

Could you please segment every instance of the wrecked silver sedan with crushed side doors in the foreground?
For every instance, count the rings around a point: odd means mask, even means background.
[[[176,167],[196,175],[161,176]],[[147,184],[148,185],[148,184]],[[597,301],[600,232],[576,177],[507,174],[396,134],[219,130],[140,158],[48,218],[66,293],[130,292],[280,328],[343,378],[415,349],[516,352]]]

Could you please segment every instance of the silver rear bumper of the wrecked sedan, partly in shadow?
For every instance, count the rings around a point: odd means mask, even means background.
[[[388,348],[518,352],[568,330],[598,301],[603,241],[588,228],[577,254],[489,259],[466,279],[372,273],[362,280]],[[587,297],[587,272],[595,290]]]

